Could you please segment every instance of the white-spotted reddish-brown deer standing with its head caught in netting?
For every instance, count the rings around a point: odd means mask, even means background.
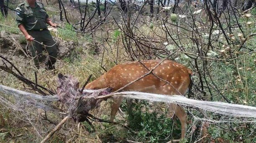
[[[87,84],[85,89],[103,89],[110,87],[111,92],[114,92],[148,73],[149,70],[153,69],[159,62],[161,62],[160,59],[118,64],[98,79]],[[192,71],[182,64],[171,60],[165,60],[159,64],[152,73],[153,74],[148,74],[130,86],[125,87],[122,91],[140,91],[153,94],[165,94],[168,96],[184,96],[189,91],[192,84]],[[166,83],[166,81],[168,81],[169,84],[167,84],[168,82]],[[122,96],[113,97],[110,112],[111,122],[114,121],[122,101]],[[169,109],[179,118],[182,130],[181,138],[184,138],[187,131],[187,113],[177,104],[170,104]]]

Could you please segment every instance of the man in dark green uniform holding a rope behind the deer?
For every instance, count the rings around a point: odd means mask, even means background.
[[[42,61],[42,51],[46,45],[46,51],[49,54],[49,61],[46,64],[47,69],[55,69],[54,63],[57,57],[57,48],[51,33],[47,30],[46,23],[56,27],[56,23],[51,22],[46,14],[44,5],[36,0],[25,0],[16,8],[16,21],[20,31],[25,35],[28,41],[32,41],[33,46],[29,51],[33,57],[35,66],[39,69],[39,63]],[[33,41],[35,39],[36,41]],[[54,46],[52,46],[54,45]]]

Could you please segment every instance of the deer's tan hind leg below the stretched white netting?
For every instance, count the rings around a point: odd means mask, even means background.
[[[177,104],[170,104],[170,109],[174,112],[174,114],[179,118],[181,123],[182,134],[181,137],[184,138],[187,132],[187,113],[184,109]]]

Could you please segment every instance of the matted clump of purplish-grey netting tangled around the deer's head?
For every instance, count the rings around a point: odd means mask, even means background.
[[[79,82],[76,78],[73,76],[67,76],[63,74],[58,74],[57,79],[58,87],[57,87],[57,94],[58,97],[64,105],[67,105],[69,107],[69,111],[72,111],[76,114],[86,114],[90,110],[94,108],[98,108],[100,106],[100,100],[95,99],[88,99],[83,100],[79,102],[79,105],[77,105],[77,99],[84,95],[84,96],[102,96],[105,94],[110,93],[110,89],[105,90],[96,90],[93,93],[87,93],[83,92],[83,94],[80,94],[79,91]],[[75,112],[74,112],[75,111]]]

